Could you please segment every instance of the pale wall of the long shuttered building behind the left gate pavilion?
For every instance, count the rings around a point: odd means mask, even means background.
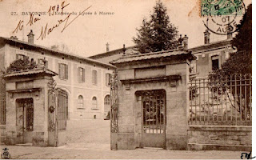
[[[58,54],[46,53],[32,50],[20,50],[19,47],[6,44],[5,50],[5,67],[10,66],[10,62],[16,59],[16,54],[23,54],[38,63],[39,58],[46,58],[48,68],[58,73],[58,63],[68,65],[68,79],[60,79],[55,76],[57,87],[66,90],[69,96],[69,118],[103,118],[104,114],[104,98],[106,94],[110,94],[110,86],[106,86],[106,73],[112,74],[113,70],[98,65],[79,62],[70,58],[62,58]],[[0,55],[1,56],[1,55]],[[78,82],[78,67],[85,69],[85,82]],[[97,85],[92,84],[92,70],[97,70]],[[84,108],[78,109],[78,96],[82,95]],[[92,98],[96,96],[98,109],[92,110]]]

